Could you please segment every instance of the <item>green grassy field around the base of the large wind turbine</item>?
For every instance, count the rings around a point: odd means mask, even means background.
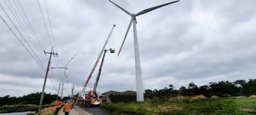
[[[204,96],[154,98],[145,102],[112,103],[102,109],[113,114],[256,114],[256,98]]]

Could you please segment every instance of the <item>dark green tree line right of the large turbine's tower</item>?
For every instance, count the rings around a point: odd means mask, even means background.
[[[250,96],[256,94],[256,79],[237,80],[235,82],[220,81],[220,82],[209,82],[209,85],[196,86],[194,82],[188,84],[188,87],[182,86],[179,90],[174,89],[172,84],[169,88],[164,89],[146,89],[144,96],[146,98],[153,98],[157,96],[194,96],[204,95],[206,97],[211,96]]]

